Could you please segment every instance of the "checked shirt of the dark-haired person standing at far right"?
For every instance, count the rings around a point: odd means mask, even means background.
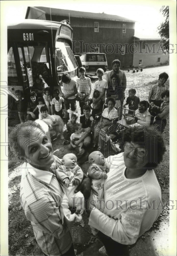
[[[159,86],[159,82],[154,84],[149,91],[149,102],[153,100],[163,101],[161,94],[166,90],[169,90],[168,85],[163,84],[163,86]]]

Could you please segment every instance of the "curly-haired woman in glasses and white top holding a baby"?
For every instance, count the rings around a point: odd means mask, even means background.
[[[93,209],[89,225],[108,255],[129,255],[129,244],[151,228],[162,210],[161,189],[154,173],[165,144],[154,127],[127,129],[124,153],[109,156],[110,171],[104,183],[104,210]],[[106,254],[105,254],[106,255]]]

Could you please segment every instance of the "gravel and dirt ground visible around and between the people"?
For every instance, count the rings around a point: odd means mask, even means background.
[[[137,91],[137,95],[141,100],[146,100],[148,97],[148,92],[150,86],[157,83],[158,75],[161,72],[169,73],[169,66],[160,66],[156,68],[146,68],[143,69],[142,72],[132,73],[125,71],[127,77],[127,90],[125,98],[128,96],[128,89],[135,88]],[[94,80],[92,81],[94,86]],[[169,80],[167,80],[166,84],[169,85]],[[78,108],[78,113],[79,108]],[[66,129],[66,128],[65,128]],[[167,120],[167,126],[163,133],[163,136],[166,141],[167,151],[163,158],[163,162],[161,165],[155,170],[157,179],[159,181],[161,190],[162,190],[162,198],[165,202],[169,199],[169,120]],[[57,138],[52,142],[54,155],[62,158],[66,153],[68,153],[68,146],[63,145],[63,140]],[[10,153],[10,152],[9,152]],[[74,151],[73,151],[74,153]],[[88,163],[84,163],[81,165],[81,168],[84,173],[87,173]],[[20,191],[20,179],[21,179],[21,171],[19,165],[14,161],[9,161],[9,201],[8,201],[8,214],[9,214],[9,255],[43,255],[41,249],[38,247],[31,227],[31,223],[26,219],[24,215],[24,211],[20,206],[19,202],[19,191]],[[91,233],[90,227],[87,225],[88,217],[86,213],[83,215],[83,221],[80,223],[75,223],[72,227],[73,234],[73,242],[75,248],[75,254],[78,255],[98,255],[98,248],[100,246],[100,241],[96,236],[93,236]],[[138,252],[136,246],[140,244],[140,247],[146,244],[148,239],[154,239],[155,233],[159,232],[159,227],[161,225],[166,225],[165,228],[160,231],[161,237],[163,237],[162,241],[160,241],[159,250],[154,249],[154,254],[151,253],[149,255],[164,255],[166,256],[167,251],[164,252],[165,244],[167,244],[167,236],[169,226],[169,210],[168,208],[164,209],[162,215],[158,218],[156,223],[154,223],[153,227],[148,232],[145,233],[144,238],[139,238],[137,241],[137,245],[130,247],[130,255],[147,255],[147,250],[144,247],[144,253]],[[154,237],[151,237],[151,234],[154,234]],[[146,238],[147,237],[147,238]],[[147,239],[147,240],[146,240]],[[155,239],[154,239],[155,240]],[[153,240],[153,241],[154,241]],[[98,247],[98,248],[97,248]],[[95,251],[96,250],[96,251]],[[86,254],[85,254],[85,253]],[[165,254],[163,254],[165,253]]]

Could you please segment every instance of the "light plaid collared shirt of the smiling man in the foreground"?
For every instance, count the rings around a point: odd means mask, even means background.
[[[62,162],[58,157],[54,158],[48,172],[29,163],[22,165],[20,202],[42,251],[47,255],[62,255],[71,247],[72,238],[68,227],[61,221],[59,206],[68,199],[55,175]]]

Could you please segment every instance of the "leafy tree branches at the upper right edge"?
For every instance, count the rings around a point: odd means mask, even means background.
[[[162,6],[160,12],[165,17],[165,21],[158,26],[158,33],[161,36],[161,45],[166,53],[169,53],[169,6]]]

